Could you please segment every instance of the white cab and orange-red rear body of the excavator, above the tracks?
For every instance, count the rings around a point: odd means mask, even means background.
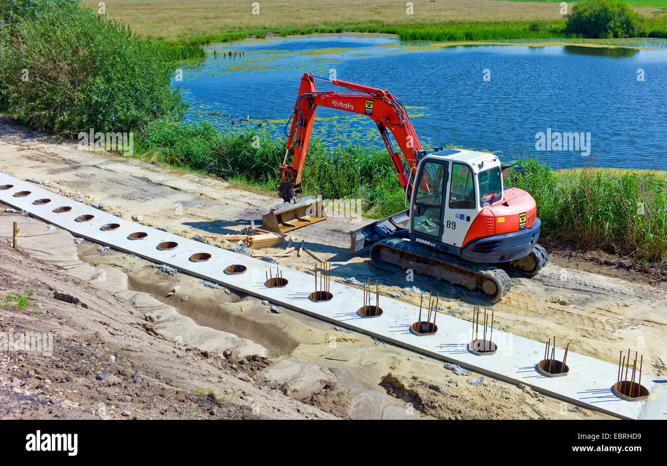
[[[422,158],[409,216],[411,240],[474,262],[522,258],[540,234],[534,199],[505,190],[500,160],[487,152],[440,150]]]

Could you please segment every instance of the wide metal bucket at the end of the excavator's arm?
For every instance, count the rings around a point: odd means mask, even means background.
[[[271,212],[261,216],[261,225],[266,230],[285,233],[302,226],[320,222],[327,218],[322,206],[322,200],[307,196],[296,204],[283,202],[271,209]]]

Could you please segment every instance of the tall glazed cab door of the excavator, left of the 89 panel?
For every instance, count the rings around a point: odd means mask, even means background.
[[[410,208],[410,231],[416,236],[440,241],[443,232],[443,202],[448,162],[424,160],[417,174]]]

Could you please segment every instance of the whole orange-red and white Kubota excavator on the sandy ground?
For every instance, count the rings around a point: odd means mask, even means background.
[[[360,93],[318,92],[315,79]],[[398,182],[406,189],[408,209],[350,232],[351,253],[370,246],[372,262],[379,268],[400,274],[411,269],[470,290],[480,288],[491,302],[510,290],[506,270],[530,277],[546,264],[546,250],[537,244],[540,219],[535,200],[523,190],[503,186],[504,171],[511,166],[502,166],[498,156],[488,152],[423,150],[406,108],[389,91],[311,73],[301,78],[279,168],[277,188],[284,203],[263,216],[265,227],[284,232],[326,218],[321,200],[300,197],[318,105],[371,118]],[[388,132],[401,152],[394,150]],[[292,148],[293,161],[287,164]]]

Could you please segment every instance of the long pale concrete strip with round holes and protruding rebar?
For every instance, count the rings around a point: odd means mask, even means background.
[[[11,187],[5,188],[9,185]],[[16,193],[22,195],[15,196]],[[468,342],[472,339],[468,320],[439,314],[438,332],[418,336],[410,332],[410,326],[418,319],[418,306],[383,298],[382,315],[364,318],[357,314],[358,308],[364,304],[363,290],[331,282],[329,292],[333,298],[313,302],[309,299],[313,277],[283,267],[280,272],[288,280],[287,286],[269,288],[265,285],[265,276],[271,264],[267,262],[117,218],[3,173],[0,173],[0,202],[75,236],[136,254],[151,262],[167,264],[181,272],[496,379],[524,383],[545,395],[628,419],[667,419],[667,390],[660,393],[660,387],[666,381],[649,374],[642,377],[642,382],[646,381],[643,385],[650,391],[648,400],[626,401],[612,392],[618,367],[611,363],[570,351],[568,375],[544,377],[535,368],[542,359],[544,342],[494,330],[498,351],[480,357],[468,351]],[[2,228],[9,226],[3,225]],[[225,268],[232,264],[243,265],[247,271],[226,273]]]

